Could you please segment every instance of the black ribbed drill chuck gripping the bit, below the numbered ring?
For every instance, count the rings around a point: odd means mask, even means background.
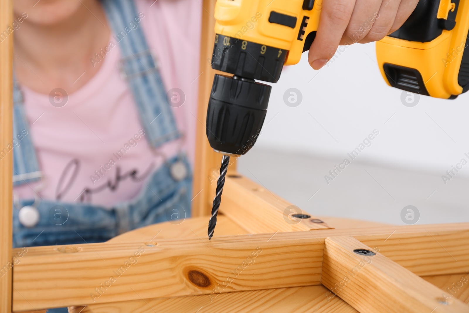
[[[214,150],[227,155],[250,150],[264,123],[271,89],[252,79],[215,75],[206,123]]]

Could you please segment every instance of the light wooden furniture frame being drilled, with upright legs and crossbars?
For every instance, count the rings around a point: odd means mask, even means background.
[[[216,236],[207,239],[210,177],[216,179],[220,159],[204,127],[213,78],[207,57],[214,3],[203,2],[195,217],[137,229],[107,243],[12,250],[10,153],[0,161],[0,264],[11,264],[12,255],[19,262],[0,277],[0,313],[61,306],[72,306],[74,313],[151,313],[153,307],[158,312],[204,307],[200,312],[468,312],[469,283],[461,277],[469,274],[469,223],[334,229],[333,222],[314,217],[292,220],[290,203],[232,166]],[[1,27],[11,21],[12,1],[0,0]],[[0,44],[1,146],[12,137],[12,48],[11,36]]]

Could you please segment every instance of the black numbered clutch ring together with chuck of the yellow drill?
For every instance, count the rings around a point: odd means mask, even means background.
[[[256,143],[267,114],[272,87],[287,51],[217,34],[212,69],[216,74],[207,109],[207,138],[212,148],[227,155],[242,155]]]

